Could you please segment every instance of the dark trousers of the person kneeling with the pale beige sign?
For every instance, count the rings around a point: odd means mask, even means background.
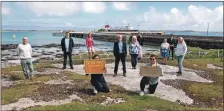
[[[145,85],[147,85],[147,84],[149,84],[149,78],[148,77],[143,77],[141,82],[140,82],[141,91],[144,91]],[[154,94],[155,93],[157,85],[158,85],[158,83],[153,84],[153,85],[149,84],[149,93],[150,94]]]

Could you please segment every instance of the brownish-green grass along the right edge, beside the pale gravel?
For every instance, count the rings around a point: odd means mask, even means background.
[[[168,60],[167,64],[177,66],[177,60]],[[194,66],[196,64],[198,66]],[[223,70],[209,69],[207,64],[214,64],[215,66],[223,67],[223,62],[219,58],[206,59],[185,59],[183,65],[185,68],[203,70],[209,73],[213,83],[189,83],[185,84],[184,89],[190,94],[196,94],[195,97],[200,101],[222,100],[223,95]],[[214,102],[215,107],[223,107],[222,103]]]

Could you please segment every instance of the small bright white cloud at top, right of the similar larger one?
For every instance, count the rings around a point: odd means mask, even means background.
[[[113,8],[116,10],[127,11],[129,10],[130,3],[128,2],[113,2]]]

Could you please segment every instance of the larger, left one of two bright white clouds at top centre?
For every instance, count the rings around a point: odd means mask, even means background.
[[[86,13],[103,13],[106,9],[104,2],[83,2],[83,9]]]

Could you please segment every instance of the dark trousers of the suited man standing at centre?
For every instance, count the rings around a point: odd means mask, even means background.
[[[118,69],[118,65],[119,62],[121,60],[122,65],[123,65],[123,73],[126,73],[126,64],[125,64],[125,54],[119,54],[115,56],[115,67],[114,67],[114,73],[117,74],[117,69]]]

